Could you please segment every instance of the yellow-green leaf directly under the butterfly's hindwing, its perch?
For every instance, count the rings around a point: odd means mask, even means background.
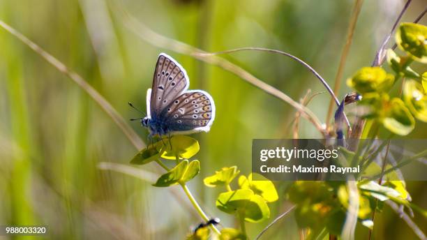
[[[186,135],[175,135],[173,137],[165,138],[165,152],[162,154],[162,158],[165,159],[177,159],[179,158],[191,158],[195,156],[200,150],[199,142],[193,137]],[[172,144],[172,148],[170,147]]]

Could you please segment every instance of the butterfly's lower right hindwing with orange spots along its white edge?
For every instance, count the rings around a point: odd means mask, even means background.
[[[160,117],[166,119],[171,135],[208,132],[215,119],[215,103],[206,91],[185,91],[161,112]]]

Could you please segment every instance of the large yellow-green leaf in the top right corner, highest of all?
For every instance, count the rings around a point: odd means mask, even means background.
[[[427,63],[427,27],[405,22],[396,32],[396,43],[400,49],[421,63]]]

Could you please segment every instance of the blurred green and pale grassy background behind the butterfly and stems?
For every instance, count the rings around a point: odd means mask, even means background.
[[[370,66],[403,3],[364,2],[344,77]],[[353,4],[342,0],[0,0],[0,20],[82,75],[125,119],[140,117],[128,101],[145,110],[158,54],[166,52],[177,59],[188,72],[190,89],[209,91],[217,110],[211,131],[193,136],[200,140],[197,159],[202,171],[189,187],[209,216],[231,227],[237,223],[216,209],[218,191],[203,186],[203,177],[231,165],[248,173],[252,139],[292,137],[295,111],[222,68],[177,54],[170,47],[157,47],[156,40],[143,40],[140,36],[149,38],[151,33],[129,27],[123,10],[160,35],[209,52],[236,47],[290,52],[332,86]],[[412,22],[425,7],[423,0],[412,1],[403,22]],[[421,24],[426,24],[426,17]],[[239,52],[221,57],[294,100],[308,89],[324,91],[306,68],[280,55]],[[426,71],[416,63],[414,68]],[[342,86],[338,98],[350,91],[344,82]],[[329,99],[322,93],[308,105],[322,121]],[[140,123],[129,124],[147,140]],[[301,120],[299,133],[302,138],[320,137],[306,120]],[[426,138],[427,124],[417,122],[407,137]],[[0,29],[0,225],[48,225],[48,239],[183,239],[200,218],[177,202],[169,188],[154,188],[151,182],[97,167],[100,162],[128,165],[135,153],[87,93]],[[158,171],[154,164],[142,168]],[[280,200],[271,205],[270,220],[290,206],[283,196],[286,185],[276,184]],[[426,209],[426,183],[410,182],[408,189],[413,202]],[[175,190],[183,195],[178,187]],[[250,236],[270,220],[248,223]],[[424,218],[414,220],[427,230]],[[375,224],[375,239],[416,238],[387,207],[377,214]],[[366,239],[367,233],[358,227],[356,237]],[[299,239],[293,216],[266,236]]]

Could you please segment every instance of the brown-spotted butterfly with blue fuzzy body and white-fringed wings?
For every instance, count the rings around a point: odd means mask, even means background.
[[[153,85],[147,90],[147,117],[140,118],[149,137],[210,130],[215,119],[213,98],[206,91],[188,90],[189,86],[186,70],[169,55],[160,53]]]

